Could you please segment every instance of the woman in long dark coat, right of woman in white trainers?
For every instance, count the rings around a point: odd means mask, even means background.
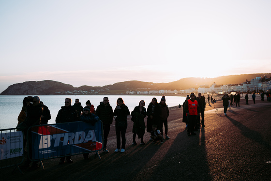
[[[146,129],[144,118],[146,118],[147,116],[147,111],[144,106],[145,106],[145,101],[141,100],[139,102],[139,105],[135,106],[134,110],[131,112],[132,121],[134,122],[133,131],[132,131],[134,133],[133,145],[136,145],[136,141],[135,141],[136,134],[138,136],[138,139],[141,140],[140,144],[145,145],[144,140],[143,140],[143,136],[145,134],[145,129]]]

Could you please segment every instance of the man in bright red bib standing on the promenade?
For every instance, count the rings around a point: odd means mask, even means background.
[[[199,116],[200,113],[200,108],[195,100],[194,94],[190,94],[190,100],[186,101],[184,111],[186,112],[188,120],[187,136],[196,135],[193,131],[196,125],[196,117]]]

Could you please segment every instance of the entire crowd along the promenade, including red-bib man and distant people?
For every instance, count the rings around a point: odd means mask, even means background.
[[[222,97],[224,114],[226,114],[227,107],[229,105],[235,104],[240,106],[240,93],[228,96],[227,93]],[[255,104],[255,93],[252,95],[252,99]],[[261,95],[262,101],[264,99],[264,94]],[[248,104],[248,94],[245,95],[246,104]],[[267,93],[267,100],[271,101],[270,91]],[[230,101],[230,102],[229,102]],[[234,102],[233,102],[234,101]],[[215,102],[215,99],[211,97],[211,102]],[[233,102],[233,103],[232,103]],[[169,139],[168,136],[168,123],[167,119],[169,116],[169,109],[166,105],[166,97],[163,95],[160,102],[158,103],[155,97],[152,98],[147,109],[145,108],[145,101],[141,100],[138,106],[135,106],[134,110],[130,113],[129,108],[124,104],[122,98],[118,98],[116,106],[113,107],[109,104],[108,97],[104,97],[100,105],[97,106],[95,110],[94,106],[90,103],[90,100],[86,102],[86,106],[83,107],[79,102],[79,99],[75,99],[75,104],[72,106],[72,99],[66,98],[65,105],[61,106],[57,117],[56,123],[62,122],[74,122],[74,121],[84,121],[92,125],[95,122],[101,120],[103,122],[104,130],[104,142],[103,151],[108,153],[106,149],[107,138],[110,132],[111,124],[113,123],[115,117],[115,131],[117,148],[115,152],[125,152],[126,146],[126,130],[128,126],[127,116],[131,114],[133,121],[133,145],[136,145],[136,137],[140,139],[140,144],[145,145],[144,134],[147,128],[147,132],[150,133],[149,140],[152,143],[160,141],[164,143],[164,139]],[[208,95],[208,103],[210,105],[210,96]],[[205,97],[198,93],[196,97],[195,93],[192,92],[187,95],[186,100],[182,104],[183,106],[183,118],[182,121],[185,122],[187,128],[187,135],[196,135],[194,131],[197,131],[201,126],[205,127],[204,111],[205,111]],[[181,107],[181,105],[179,105]],[[144,119],[147,117],[147,125],[145,125]],[[30,167],[30,160],[32,157],[32,140],[31,136],[28,138],[27,135],[28,128],[33,125],[47,124],[48,120],[51,119],[50,110],[47,106],[40,101],[38,96],[28,96],[23,100],[23,107],[18,116],[17,128],[24,133],[24,148],[25,143],[29,143],[29,157],[27,158],[24,167]],[[165,127],[165,128],[164,128]],[[26,139],[29,139],[26,141]],[[24,150],[25,151],[25,150]],[[62,155],[60,158],[60,164],[65,163],[65,157],[67,163],[73,163],[70,155]],[[89,159],[89,153],[83,154],[84,159]],[[33,162],[33,168],[37,168],[37,162]]]

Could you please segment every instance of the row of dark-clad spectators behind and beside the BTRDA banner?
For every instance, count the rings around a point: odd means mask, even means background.
[[[92,125],[95,122],[101,120],[103,122],[104,130],[104,144],[103,151],[108,153],[106,149],[107,137],[110,132],[110,126],[113,123],[115,117],[115,131],[117,148],[115,152],[125,152],[126,146],[126,129],[128,126],[127,116],[130,115],[129,108],[124,104],[122,98],[118,98],[116,107],[113,109],[109,104],[108,97],[104,97],[100,105],[97,106],[95,110],[94,106],[90,103],[90,100],[86,102],[86,106],[83,107],[79,102],[79,99],[75,99],[75,104],[72,106],[72,99],[66,98],[65,105],[61,106],[56,117],[56,123],[63,122],[74,122],[74,121],[84,121]],[[131,112],[131,121],[133,121],[133,145],[136,145],[136,136],[140,139],[140,144],[145,145],[144,134],[147,127],[147,132],[150,133],[150,140],[152,143],[160,141],[163,143],[164,139],[169,139],[167,118],[169,116],[169,109],[166,105],[166,98],[163,95],[161,101],[158,103],[157,99],[154,97],[151,103],[145,108],[145,101],[141,100],[138,106],[135,106],[134,110]],[[144,118],[147,118],[147,125],[145,125]],[[50,110],[47,106],[40,101],[39,96],[28,96],[23,100],[23,107],[18,116],[17,128],[23,131],[24,135],[27,135],[27,130],[33,125],[47,124],[48,120],[51,119]],[[164,128],[165,127],[165,128]],[[164,131],[163,131],[164,129]],[[164,137],[165,134],[165,137]],[[23,167],[30,167],[31,160],[31,136],[24,137],[24,143],[28,141],[29,143],[29,158],[25,162]],[[25,145],[24,145],[25,147]],[[83,154],[84,159],[89,159],[89,153]],[[66,161],[65,161],[66,158]],[[62,155],[60,157],[60,163],[73,163],[70,155]],[[38,167],[38,162],[33,162],[32,168]]]

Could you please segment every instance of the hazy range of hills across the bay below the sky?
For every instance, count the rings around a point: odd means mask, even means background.
[[[75,88],[72,85],[64,84],[53,80],[43,81],[28,81],[17,83],[9,86],[0,95],[54,95],[56,92],[67,92],[74,90],[84,90],[92,92],[93,94],[119,94],[125,93],[127,90],[186,90],[189,88],[198,88],[201,85],[211,86],[213,82],[217,85],[226,84],[242,84],[246,80],[250,81],[257,76],[271,77],[271,73],[267,74],[243,74],[243,75],[228,75],[219,76],[216,78],[182,78],[180,80],[169,83],[152,83],[142,81],[125,81],[118,82],[113,85],[106,85],[103,87],[80,86]],[[68,94],[68,93],[66,93]]]

